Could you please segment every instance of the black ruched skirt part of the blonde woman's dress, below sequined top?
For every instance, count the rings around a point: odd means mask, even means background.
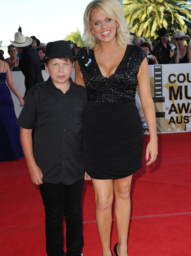
[[[143,128],[135,101],[88,102],[83,116],[85,168],[94,179],[120,179],[142,166]]]

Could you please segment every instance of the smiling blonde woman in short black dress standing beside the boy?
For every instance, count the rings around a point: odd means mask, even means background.
[[[146,53],[130,44],[130,32],[117,0],[88,4],[84,14],[86,47],[78,50],[75,82],[86,87],[88,106],[83,117],[83,152],[96,200],[96,222],[102,255],[110,251],[111,206],[115,195],[118,243],[115,255],[127,255],[130,187],[142,166],[143,129],[135,93],[139,88],[150,131],[146,165],[157,158],[157,134]]]

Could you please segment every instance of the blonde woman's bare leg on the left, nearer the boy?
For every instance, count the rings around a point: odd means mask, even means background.
[[[95,215],[98,233],[102,246],[102,255],[111,256],[110,234],[111,234],[111,206],[113,202],[113,180],[92,179],[95,193]]]

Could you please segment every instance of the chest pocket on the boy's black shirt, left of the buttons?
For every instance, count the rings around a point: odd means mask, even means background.
[[[38,115],[39,121],[42,123],[55,123],[57,111],[52,105],[42,106],[41,112]]]

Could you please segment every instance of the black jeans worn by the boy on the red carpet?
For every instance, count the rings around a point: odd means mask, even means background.
[[[81,199],[84,179],[73,185],[39,185],[45,207],[46,252],[64,255],[63,216],[66,221],[66,256],[80,256],[83,246]]]

